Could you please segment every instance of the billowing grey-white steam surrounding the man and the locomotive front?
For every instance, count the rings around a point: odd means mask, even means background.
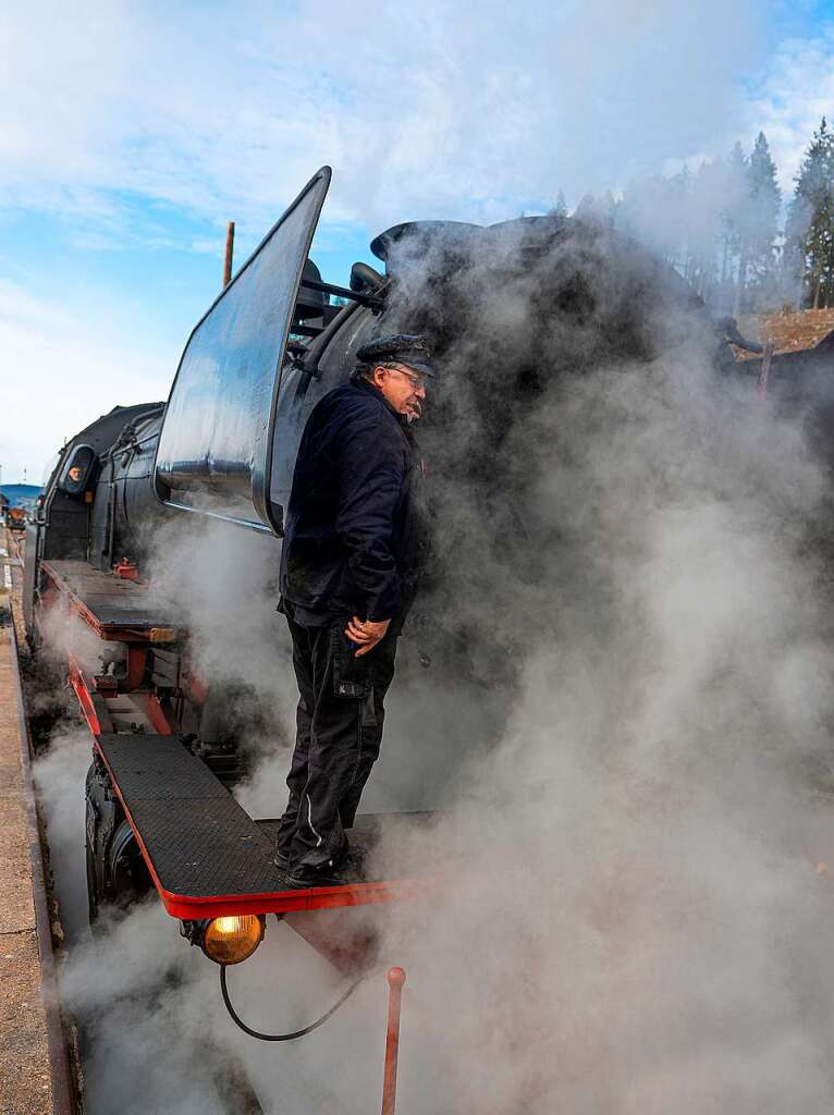
[[[450,233],[392,260],[387,322],[442,343],[418,427],[438,568],[363,807],[443,805],[417,851],[450,880],[440,899],[380,911],[381,954],[408,970],[399,1103],[822,1115],[827,475],[804,416],[715,371],[682,283],[604,230],[537,235],[462,246]],[[275,550],[193,530],[161,532],[155,583],[188,614],[208,680],[246,681],[272,711],[240,793],[274,815],[294,704]],[[56,832],[64,795],[80,813],[72,778],[40,768]],[[153,908],[77,947],[65,989],[98,1035],[100,1096],[133,1058],[149,1077],[127,1109],[220,1109],[207,1061],[222,1048],[275,1112],[378,1103],[381,982],[300,1046],[264,1049],[220,1012],[214,978]],[[272,923],[234,972],[266,1029],[308,1021],[337,983]]]

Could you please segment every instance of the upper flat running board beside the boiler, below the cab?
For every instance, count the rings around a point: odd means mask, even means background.
[[[45,561],[43,572],[81,604],[103,630],[177,627],[175,609],[152,600],[136,581],[93,569],[86,561]]]

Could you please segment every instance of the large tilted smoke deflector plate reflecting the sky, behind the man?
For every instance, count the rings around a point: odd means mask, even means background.
[[[154,466],[168,506],[281,534],[270,498],[277,403],[290,333],[308,328],[311,297],[323,302],[308,253],[330,175],[313,175],[188,338]]]

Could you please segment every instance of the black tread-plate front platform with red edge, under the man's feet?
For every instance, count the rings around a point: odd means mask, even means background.
[[[429,878],[349,881],[341,886],[282,889],[272,863],[274,821],[256,822],[207,766],[175,736],[101,734],[95,749],[173,918],[200,921],[227,914],[289,913],[390,902],[437,889]],[[357,818],[351,846],[367,860],[408,867],[416,827],[430,814]]]

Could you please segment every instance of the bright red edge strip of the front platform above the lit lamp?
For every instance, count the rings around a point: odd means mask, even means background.
[[[173,894],[165,890],[154,867],[154,862],[145,846],[136,822],[122,796],[122,791],[110,769],[107,759],[94,740],[96,753],[100,757],[113,780],[113,788],[125,811],[128,824],[134,831],[154,886],[159,892],[163,905],[172,918],[183,921],[202,921],[208,918],[225,918],[232,914],[245,913],[290,913],[299,910],[333,910],[340,906],[367,905],[377,902],[401,901],[404,899],[424,898],[439,889],[439,881],[431,879],[397,879],[374,883],[351,883],[347,886],[317,886],[303,891],[274,891],[262,894],[216,894],[207,898],[190,894]]]

